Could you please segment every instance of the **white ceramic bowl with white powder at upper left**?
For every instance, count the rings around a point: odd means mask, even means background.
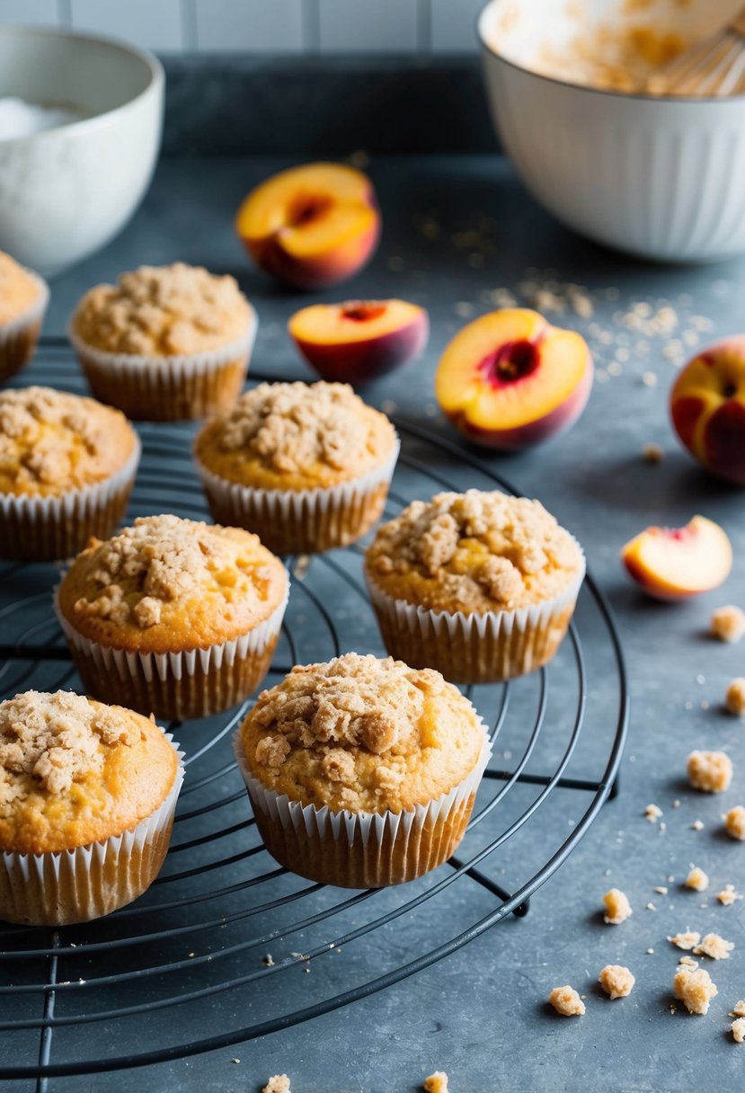
[[[164,74],[141,49],[68,31],[0,27],[0,96],[86,117],[0,141],[0,249],[54,275],[127,223],[161,145]]]

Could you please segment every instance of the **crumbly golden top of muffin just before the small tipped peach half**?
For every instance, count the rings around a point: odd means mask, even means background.
[[[263,490],[336,485],[392,455],[395,430],[348,384],[260,384],[209,422],[197,458],[213,474]]]

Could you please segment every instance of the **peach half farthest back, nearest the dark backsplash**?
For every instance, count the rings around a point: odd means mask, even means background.
[[[268,273],[298,289],[322,289],[356,273],[380,234],[372,184],[339,163],[308,163],[272,175],[240,205],[236,231]]]

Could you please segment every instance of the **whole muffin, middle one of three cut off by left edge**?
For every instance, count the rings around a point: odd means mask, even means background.
[[[0,557],[55,561],[113,534],[139,461],[118,410],[48,387],[0,391]]]

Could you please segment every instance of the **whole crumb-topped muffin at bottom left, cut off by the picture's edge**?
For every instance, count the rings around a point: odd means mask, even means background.
[[[67,691],[0,703],[0,918],[64,926],[154,881],[184,769],[146,717]]]

